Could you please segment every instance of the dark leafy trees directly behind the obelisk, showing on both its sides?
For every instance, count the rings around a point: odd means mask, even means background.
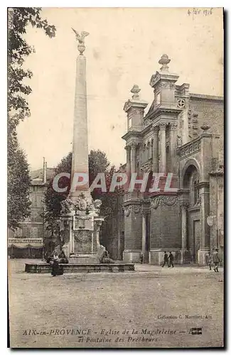
[[[54,176],[59,173],[71,173],[71,161],[72,153],[69,153],[61,160],[61,162],[55,168]],[[109,192],[109,186],[112,180],[112,175],[114,173],[114,167],[109,168],[109,160],[107,155],[100,151],[90,151],[88,155],[89,161],[89,181],[90,185],[92,181],[97,176],[97,173],[104,173],[106,178],[107,192],[102,192],[101,189],[95,189],[92,191],[93,200],[99,199],[102,200],[101,214],[104,217],[109,216],[112,212],[112,198],[113,192]],[[45,204],[45,214],[44,219],[47,224],[48,231],[51,234],[57,234],[59,230],[58,218],[60,217],[60,202],[65,200],[70,191],[70,179],[63,177],[60,178],[58,182],[59,187],[68,186],[68,190],[63,193],[56,192],[53,189],[53,180],[50,180],[48,184],[48,189],[45,192],[44,204]]]

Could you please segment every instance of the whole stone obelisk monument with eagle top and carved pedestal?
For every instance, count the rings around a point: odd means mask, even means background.
[[[60,240],[69,263],[99,263],[98,251],[104,248],[100,246],[100,225],[104,217],[100,217],[102,202],[92,200],[88,181],[86,58],[82,54],[89,33],[79,35],[72,30],[80,55],[76,60],[71,188],[70,195],[60,203]],[[76,179],[77,174],[80,175]],[[83,174],[87,177],[85,183],[76,185]]]

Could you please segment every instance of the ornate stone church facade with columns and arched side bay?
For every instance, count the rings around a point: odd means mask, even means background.
[[[124,169],[149,173],[150,187],[159,173],[159,189],[121,192],[103,242],[126,262],[140,262],[142,254],[145,263],[160,265],[163,251],[172,251],[176,263],[205,265],[208,251],[218,248],[222,257],[224,247],[223,98],[190,93],[169,62],[162,55],[151,76],[154,101],[146,114],[138,85],[124,104]],[[171,191],[163,188],[168,173]]]

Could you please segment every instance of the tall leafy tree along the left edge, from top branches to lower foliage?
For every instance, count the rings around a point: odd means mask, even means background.
[[[25,81],[32,77],[32,72],[25,69],[23,64],[34,50],[23,35],[31,25],[43,28],[45,34],[52,38],[55,26],[48,25],[48,21],[41,18],[41,8],[9,8],[8,11],[8,226],[15,229],[23,218],[28,217],[30,207],[28,163],[18,146],[16,133],[18,124],[31,114],[26,97],[32,89]]]

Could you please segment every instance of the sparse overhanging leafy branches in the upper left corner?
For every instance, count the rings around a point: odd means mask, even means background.
[[[41,8],[9,8],[8,129],[10,135],[16,133],[16,126],[20,121],[30,116],[26,97],[31,94],[32,89],[25,80],[31,79],[33,74],[23,65],[26,57],[34,51],[24,38],[28,25],[42,28],[50,38],[55,36],[55,26],[48,25],[48,21],[41,18]]]

